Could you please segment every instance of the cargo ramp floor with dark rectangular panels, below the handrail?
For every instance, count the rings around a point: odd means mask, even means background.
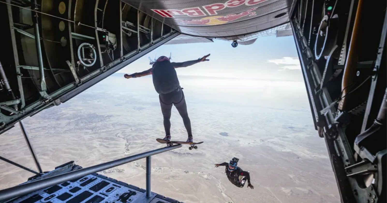
[[[74,168],[74,167],[73,167]],[[44,176],[49,176],[48,172]],[[31,182],[34,179],[27,181]],[[144,179],[145,181],[145,179]],[[157,197],[156,197],[157,196]],[[160,198],[161,197],[161,198]],[[7,201],[7,203],[177,203],[171,198],[152,193],[146,197],[144,189],[111,179],[100,174],[90,174],[73,181],[35,191],[33,193]]]

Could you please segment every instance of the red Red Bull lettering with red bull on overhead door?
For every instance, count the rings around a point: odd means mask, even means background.
[[[162,17],[166,17],[166,18],[174,18],[176,15],[188,15],[190,17],[202,17],[202,16],[207,16],[207,15],[210,15],[210,16],[218,15],[217,12],[220,10],[223,10],[223,9],[234,8],[234,7],[238,7],[241,5],[253,6],[253,5],[257,5],[259,3],[265,2],[265,1],[267,1],[267,0],[228,0],[225,3],[213,3],[213,4],[205,5],[202,7],[194,7],[194,8],[188,8],[188,9],[182,9],[182,10],[178,10],[178,9],[167,9],[167,10],[151,9],[151,10],[156,12],[157,14],[161,15]],[[258,7],[255,7],[254,10],[257,8]],[[208,17],[208,19],[207,18],[203,18],[203,19],[211,20],[211,19],[217,19],[217,18],[223,17],[224,20],[230,19],[230,20],[226,21],[226,22],[229,22],[229,21],[236,20],[236,19],[240,18],[240,17],[238,17],[238,15],[243,15],[243,14],[244,14],[244,12],[242,12],[240,14],[230,14],[227,16],[214,16],[216,18]],[[254,14],[255,14],[255,12],[254,12]],[[246,14],[246,15],[250,15],[250,14]],[[246,16],[246,15],[243,15],[243,16]],[[234,19],[234,18],[236,18],[236,19]],[[200,20],[203,20],[203,19],[200,19]],[[221,19],[217,19],[217,20],[223,21]],[[213,20],[213,22],[215,22],[215,21],[216,20]],[[193,23],[193,24],[195,24],[195,23]]]

